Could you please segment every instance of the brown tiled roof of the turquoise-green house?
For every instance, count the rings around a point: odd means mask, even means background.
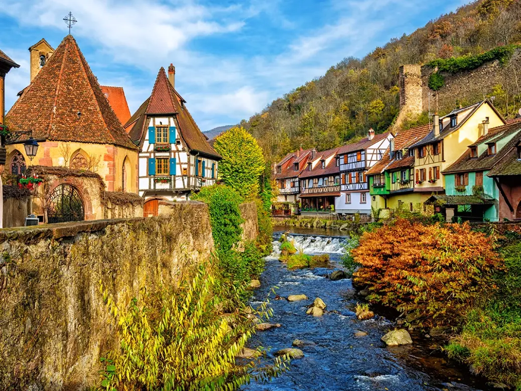
[[[469,146],[477,146],[483,143],[487,144],[489,142],[493,142],[494,140],[499,141],[500,139],[508,137],[519,131],[521,131],[521,120],[510,121],[510,123],[506,125],[490,129],[487,135],[481,136],[475,143]],[[505,149],[512,148],[512,146],[509,147],[508,144],[510,144],[510,142],[503,146],[503,148],[494,155],[489,155],[488,151],[485,151],[477,157],[471,157],[470,149],[468,149],[463,155],[460,156],[460,158],[458,158],[456,162],[454,162],[447,169],[443,170],[443,174],[483,171],[491,169],[503,158],[506,152]]]

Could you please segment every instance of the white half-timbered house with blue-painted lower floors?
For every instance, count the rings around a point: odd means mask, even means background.
[[[338,214],[371,214],[366,173],[382,158],[392,138],[390,132],[375,136],[375,131],[369,129],[366,138],[340,147],[337,153],[340,164],[340,197],[337,197],[334,204]]]

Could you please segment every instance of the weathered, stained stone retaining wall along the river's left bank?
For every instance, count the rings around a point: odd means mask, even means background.
[[[33,391],[100,380],[99,358],[118,344],[100,282],[123,307],[142,288],[175,284],[214,248],[200,202],[164,217],[3,229],[0,243],[0,389]]]

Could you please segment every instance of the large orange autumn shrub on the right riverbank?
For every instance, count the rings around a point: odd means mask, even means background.
[[[351,251],[367,300],[394,308],[413,326],[454,325],[496,289],[501,268],[493,241],[468,224],[423,225],[398,219],[365,233]]]

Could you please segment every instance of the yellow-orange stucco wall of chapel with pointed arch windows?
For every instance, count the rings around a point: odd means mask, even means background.
[[[138,193],[138,150],[131,150],[109,144],[80,142],[44,141],[39,142],[38,153],[31,162],[23,148],[23,143],[7,145],[6,169],[15,151],[22,153],[26,165],[69,167],[72,158],[81,153],[91,166],[91,171],[99,174],[107,191],[125,190]],[[128,159],[126,188],[122,189],[123,162]]]

